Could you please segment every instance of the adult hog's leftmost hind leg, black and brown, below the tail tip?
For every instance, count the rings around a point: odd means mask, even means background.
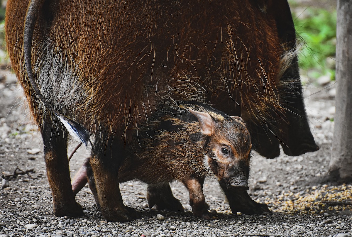
[[[40,123],[39,123],[40,124]],[[67,131],[59,121],[44,119],[39,127],[44,143],[46,174],[51,187],[55,216],[82,216],[83,208],[75,200],[67,158]]]

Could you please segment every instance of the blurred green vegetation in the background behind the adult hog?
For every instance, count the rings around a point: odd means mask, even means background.
[[[6,0],[0,0],[0,67],[8,68],[4,41]],[[335,79],[336,1],[289,0],[300,43],[303,83]],[[321,84],[323,84],[321,83]]]

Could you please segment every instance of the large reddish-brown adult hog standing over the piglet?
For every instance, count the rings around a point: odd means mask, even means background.
[[[115,179],[125,143],[162,99],[210,102],[241,116],[266,157],[280,143],[289,155],[318,149],[286,0],[8,0],[5,27],[42,133],[56,216],[83,213],[69,176],[70,131],[85,143],[95,137],[90,165],[102,215],[137,217]],[[148,190],[163,196],[169,187]]]

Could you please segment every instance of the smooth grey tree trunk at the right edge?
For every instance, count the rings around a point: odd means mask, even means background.
[[[352,1],[337,1],[336,113],[329,174],[352,180]]]

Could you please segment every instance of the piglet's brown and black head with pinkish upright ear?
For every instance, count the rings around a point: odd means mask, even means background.
[[[204,164],[220,183],[246,191],[251,157],[251,136],[240,117],[190,110],[208,139]]]

